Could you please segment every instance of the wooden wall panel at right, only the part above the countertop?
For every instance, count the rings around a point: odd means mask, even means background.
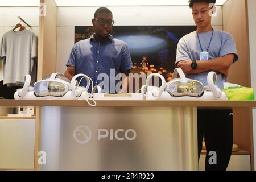
[[[223,6],[223,30],[236,41],[239,61],[230,68],[228,81],[250,86],[249,34],[245,0],[228,0]]]

